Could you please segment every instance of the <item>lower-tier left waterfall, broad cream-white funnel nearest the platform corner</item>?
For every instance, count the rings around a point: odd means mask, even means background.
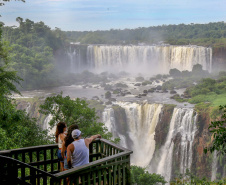
[[[127,133],[129,138],[133,141],[131,146],[127,146],[124,136],[121,144],[133,150],[131,156],[133,164],[146,167],[150,163],[155,151],[155,127],[159,120],[162,105],[148,104],[147,102],[142,104],[117,102],[116,104],[125,109],[129,129]],[[113,135],[115,132],[118,133],[118,131],[115,130],[116,123],[112,108],[105,109],[103,120]],[[121,138],[121,136],[119,137]]]

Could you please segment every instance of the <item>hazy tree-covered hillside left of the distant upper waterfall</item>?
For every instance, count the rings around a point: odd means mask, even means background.
[[[18,71],[25,89],[58,84],[54,68],[54,52],[64,48],[66,38],[59,29],[51,30],[43,22],[18,17],[19,27],[3,27],[3,40],[9,42],[12,62],[10,69]]]

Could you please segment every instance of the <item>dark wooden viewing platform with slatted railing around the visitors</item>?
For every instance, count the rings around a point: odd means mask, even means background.
[[[57,144],[0,151],[1,185],[127,185],[132,151],[96,139],[90,144],[90,163],[60,172]]]

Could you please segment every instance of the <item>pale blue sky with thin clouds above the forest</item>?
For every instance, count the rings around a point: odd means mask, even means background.
[[[22,17],[65,31],[109,30],[226,22],[226,0],[26,0],[5,3],[0,14],[8,26]]]

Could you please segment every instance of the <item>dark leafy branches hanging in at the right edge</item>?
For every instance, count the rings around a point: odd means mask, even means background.
[[[209,130],[213,135],[212,146],[205,148],[204,152],[217,150],[219,153],[226,154],[226,105],[220,106],[221,119],[219,121],[212,121]]]

